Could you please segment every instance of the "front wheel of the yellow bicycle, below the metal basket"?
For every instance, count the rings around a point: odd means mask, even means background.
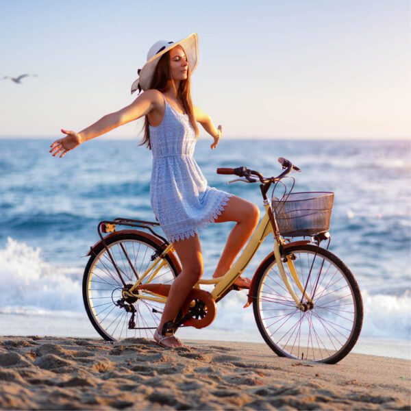
[[[314,292],[314,307],[305,312],[297,307],[279,276],[275,257],[271,256],[256,273],[253,287],[258,329],[278,356],[335,364],[347,356],[360,335],[360,288],[347,266],[330,251],[315,245],[296,245],[286,252],[296,258],[293,262],[303,287],[308,283],[306,294],[312,298]],[[292,280],[286,263],[284,268],[301,301],[303,292]]]

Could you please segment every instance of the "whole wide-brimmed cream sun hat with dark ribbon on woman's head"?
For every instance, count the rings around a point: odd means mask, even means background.
[[[138,69],[137,73],[139,77],[132,84],[132,94],[136,90],[140,93],[141,90],[147,90],[147,88],[149,88],[155,71],[155,66],[157,66],[161,56],[178,45],[181,45],[186,52],[190,72],[192,73],[195,71],[199,62],[199,36],[197,33],[192,33],[190,36],[176,42],[159,40],[149,49],[149,52],[147,53],[147,63],[142,69]]]

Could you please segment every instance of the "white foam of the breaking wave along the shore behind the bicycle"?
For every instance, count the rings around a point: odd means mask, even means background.
[[[84,313],[81,279],[81,270],[45,262],[39,248],[8,238],[6,247],[0,249],[0,314],[78,316]],[[409,292],[384,295],[362,290],[362,298],[362,336],[410,339]],[[230,293],[217,304],[217,317],[211,328],[243,334],[257,332],[253,308],[242,308],[246,301],[246,291]]]

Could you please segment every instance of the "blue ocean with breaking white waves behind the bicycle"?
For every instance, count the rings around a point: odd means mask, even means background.
[[[82,302],[88,249],[103,219],[155,221],[150,206],[151,151],[136,140],[99,140],[53,158],[53,140],[0,140],[0,334],[98,337]],[[258,184],[230,184],[217,167],[247,166],[278,175],[278,157],[301,168],[293,192],[333,191],[329,249],[353,271],[364,300],[354,351],[411,358],[411,142],[388,140],[212,140],[195,159],[208,184],[253,201]],[[212,276],[234,223],[200,230],[204,277]],[[161,229],[158,232],[162,234]],[[267,238],[245,271],[270,253]],[[206,329],[182,337],[262,342],[247,292],[217,304]]]

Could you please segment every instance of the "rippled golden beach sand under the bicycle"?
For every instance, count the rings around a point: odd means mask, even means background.
[[[410,361],[349,354],[335,365],[258,343],[0,337],[1,409],[410,410]]]

